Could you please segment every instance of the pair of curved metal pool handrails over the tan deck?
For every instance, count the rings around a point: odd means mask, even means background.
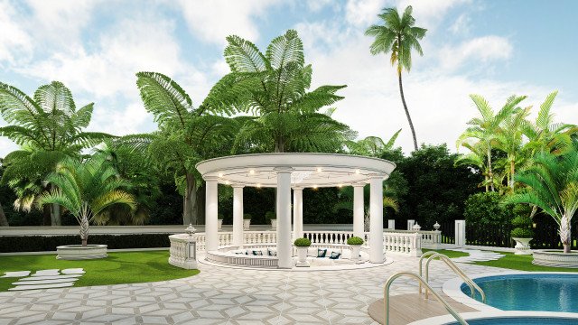
[[[428,257],[429,256],[429,257]],[[425,262],[425,279],[422,277],[423,274],[423,261],[424,258],[428,257],[427,261]],[[486,302],[486,293],[484,293],[483,290],[481,290],[480,286],[476,283],[473,282],[473,280],[471,280],[471,278],[466,275],[465,273],[463,273],[463,271],[461,270],[461,268],[456,265],[455,263],[453,263],[453,261],[447,256],[447,255],[443,255],[441,253],[437,253],[434,251],[429,251],[424,253],[420,258],[419,258],[419,274],[415,274],[413,272],[398,272],[396,274],[393,274],[389,277],[389,279],[387,279],[387,282],[385,284],[385,288],[384,288],[384,292],[383,292],[383,301],[384,301],[384,305],[385,305],[385,325],[389,325],[389,288],[391,287],[391,283],[393,283],[398,277],[401,276],[408,276],[408,277],[412,277],[415,280],[417,280],[417,282],[419,283],[419,293],[420,295],[422,294],[422,286],[424,286],[425,289],[425,299],[428,298],[428,292],[432,292],[433,296],[437,299],[438,302],[441,302],[443,304],[443,307],[445,308],[446,311],[448,311],[453,318],[455,318],[455,320],[458,320],[458,322],[461,325],[468,325],[468,322],[463,320],[463,318],[461,318],[460,314],[455,311],[452,306],[450,306],[448,304],[448,302],[446,302],[442,296],[435,292],[432,288],[432,286],[430,286],[429,284],[429,266],[430,266],[430,262],[434,259],[434,258],[439,258],[440,260],[442,260],[446,265],[448,265],[450,267],[450,269],[452,269],[452,271],[455,274],[458,274],[461,279],[464,281],[464,283],[466,283],[469,287],[470,287],[470,291],[471,291],[471,297],[474,298],[476,291],[480,292],[481,295],[481,300],[482,302]]]

